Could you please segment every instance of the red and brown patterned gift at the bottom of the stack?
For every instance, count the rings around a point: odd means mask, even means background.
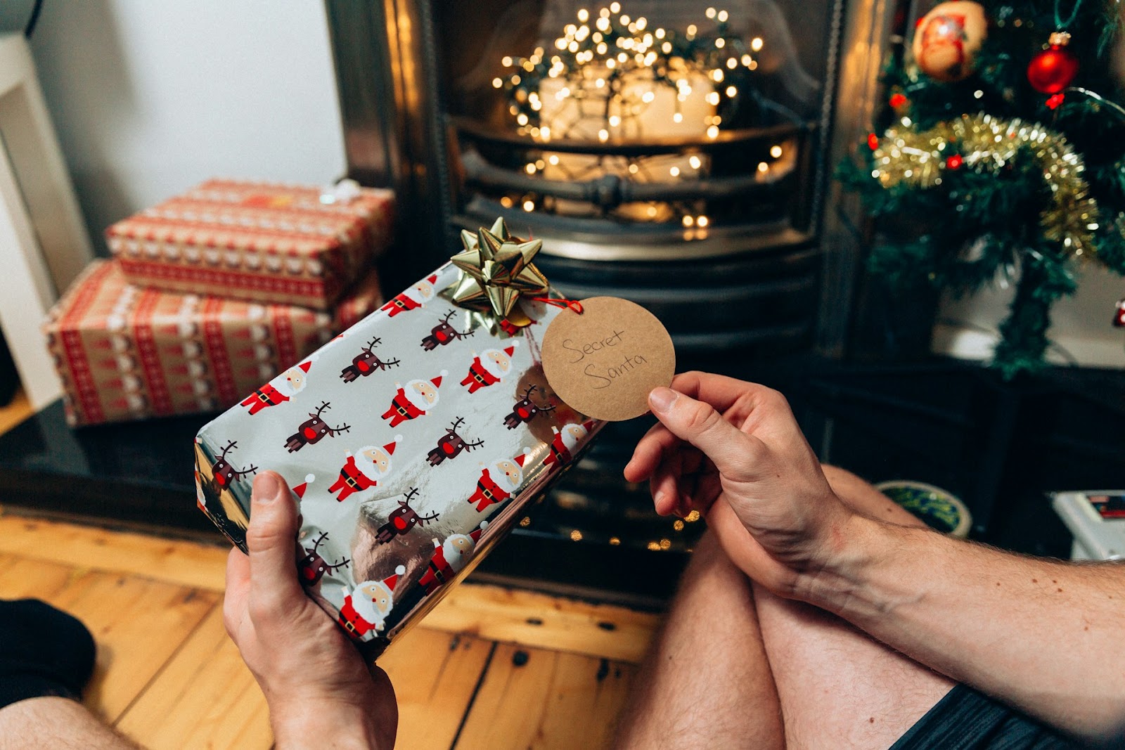
[[[375,273],[333,315],[134,287],[96,261],[44,323],[72,425],[215,412],[381,302]]]

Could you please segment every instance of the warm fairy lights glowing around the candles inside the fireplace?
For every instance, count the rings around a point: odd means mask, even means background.
[[[698,180],[711,173],[704,144],[721,130],[745,127],[760,101],[754,89],[762,37],[732,30],[727,10],[708,8],[705,20],[683,29],[655,26],[612,2],[580,9],[552,39],[526,57],[505,56],[505,72],[492,85],[505,96],[516,133],[547,146],[570,141],[592,144],[645,143],[676,138],[676,154],[591,153],[529,154],[531,177],[579,181],[613,174],[636,182]],[[793,153],[790,153],[793,152]],[[764,152],[757,175],[772,179],[777,162],[790,169],[795,144],[775,143]],[[505,208],[584,214],[588,207],[546,195],[501,198]],[[619,218],[677,222],[688,231],[705,229],[709,217],[698,201],[648,201],[614,209]]]

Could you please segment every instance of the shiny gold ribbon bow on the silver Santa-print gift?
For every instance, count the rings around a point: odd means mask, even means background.
[[[520,295],[547,292],[547,277],[531,263],[543,241],[512,236],[504,219],[498,218],[492,229],[480,227],[475,234],[461,229],[461,244],[465,250],[450,259],[461,271],[452,287],[453,302],[492,311],[515,325],[530,323],[515,301]]]

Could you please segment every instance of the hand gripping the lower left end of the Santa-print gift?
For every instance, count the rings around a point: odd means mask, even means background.
[[[278,748],[392,748],[398,707],[297,582],[297,504],[272,471],[254,478],[246,546],[231,550],[223,618],[266,694]]]

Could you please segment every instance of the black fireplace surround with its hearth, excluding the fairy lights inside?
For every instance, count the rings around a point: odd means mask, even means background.
[[[675,15],[669,9],[705,17],[708,3],[623,4],[659,18]],[[909,4],[732,3],[732,21],[760,34],[764,49],[784,46],[778,29],[786,24],[799,29],[786,54],[808,76],[803,98],[764,78],[758,93],[780,108],[756,110],[713,137],[544,144],[515,132],[490,81],[505,74],[502,55],[533,54],[550,19],[572,18],[582,6],[326,0],[349,175],[398,195],[385,290],[444,262],[460,229],[504,216],[515,234],[543,240],[537,264],[567,296],[620,296],[655,313],[676,344],[680,370],[785,392],[822,460],[872,481],[945,487],[969,504],[976,539],[1065,557],[1069,536],[1043,491],[1119,484],[1122,373],[1050,369],[1006,383],[974,363],[927,355],[933,320],[917,305],[856,293],[864,287],[862,214],[829,172],[872,121],[879,67],[889,46],[901,44]],[[756,174],[777,151],[791,156],[784,169]],[[709,166],[700,180],[663,182],[611,172],[547,180],[525,169],[548,153],[595,161],[695,155]],[[551,210],[561,201],[578,210]],[[675,201],[708,223],[622,218],[623,206],[645,201]],[[893,361],[863,363],[886,350]],[[217,539],[195,508],[188,449],[205,421],[71,431],[55,404],[0,435],[0,498],[39,513]],[[604,431],[475,576],[659,606],[703,523],[656,516],[648,488],[622,478],[650,424]]]

